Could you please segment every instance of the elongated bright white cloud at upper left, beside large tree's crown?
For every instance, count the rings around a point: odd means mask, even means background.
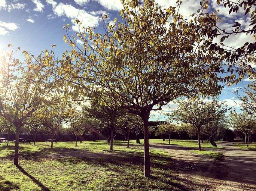
[[[99,18],[97,16],[93,16],[83,9],[77,9],[70,4],[59,3],[56,7],[53,6],[53,12],[59,17],[66,16],[70,18],[72,23],[79,19],[83,26],[98,26]],[[78,31],[78,26],[73,25],[72,29]]]

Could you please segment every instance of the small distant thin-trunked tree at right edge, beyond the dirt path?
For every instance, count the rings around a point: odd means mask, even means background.
[[[244,133],[244,139],[246,146],[248,147],[249,143],[249,134],[256,132],[256,117],[255,115],[250,115],[247,112],[237,113],[232,112],[230,113],[231,116],[231,124],[233,125],[234,129],[241,131]],[[246,134],[248,137],[248,143],[246,140]]]

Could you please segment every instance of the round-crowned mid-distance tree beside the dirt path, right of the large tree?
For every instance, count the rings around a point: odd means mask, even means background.
[[[197,129],[198,150],[201,151],[201,128],[216,120],[222,119],[227,109],[223,103],[220,103],[216,99],[207,102],[199,98],[194,98],[180,100],[177,103],[178,108],[172,111],[171,116],[174,120],[191,123]]]

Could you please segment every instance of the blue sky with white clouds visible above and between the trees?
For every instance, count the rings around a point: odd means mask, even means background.
[[[176,6],[176,0],[156,2],[163,8]],[[184,0],[180,13],[189,17],[190,13],[196,12],[199,8],[199,0]],[[0,0],[0,49],[3,50],[7,44],[12,44],[14,49],[21,47],[21,50],[37,55],[55,44],[55,55],[61,57],[67,48],[63,41],[64,25],[70,24],[71,34],[75,33],[77,26],[73,23],[75,19],[79,19],[85,26],[96,27],[97,32],[102,32],[100,10],[103,15],[108,15],[111,22],[114,18],[121,19],[120,9],[122,4],[119,0]],[[217,5],[215,0],[210,1],[209,11],[216,9],[220,10],[218,14],[222,21],[218,25],[221,28],[230,30],[235,21],[239,21],[244,28],[249,27],[249,14],[245,17],[242,10],[228,15],[228,8]],[[239,47],[246,41],[253,41],[252,37],[239,34],[229,37],[225,43]],[[234,106],[237,98],[232,92],[249,82],[249,79],[244,79],[237,85],[225,87],[220,100],[226,100],[230,106]],[[167,111],[168,107],[163,109]],[[159,116],[162,114],[156,112],[152,119],[158,119]]]

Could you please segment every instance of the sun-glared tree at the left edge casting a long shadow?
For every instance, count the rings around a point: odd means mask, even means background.
[[[0,116],[15,126],[14,165],[18,166],[19,131],[45,103],[51,79],[41,66],[50,55],[41,53],[35,58],[23,51],[25,60],[21,62],[14,58],[14,53],[5,53],[0,60]]]

